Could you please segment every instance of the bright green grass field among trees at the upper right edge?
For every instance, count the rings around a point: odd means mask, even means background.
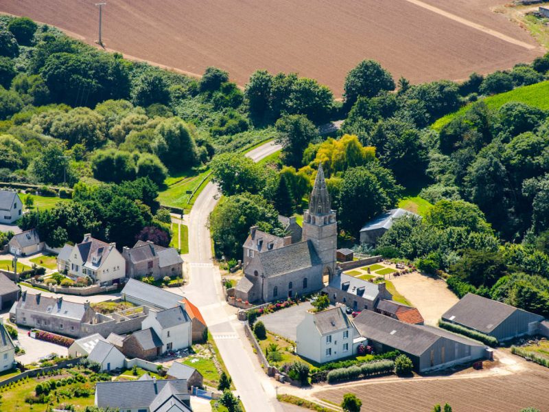
[[[548,95],[549,81],[546,81],[530,84],[530,86],[517,87],[517,89],[507,91],[506,93],[489,96],[488,98],[484,98],[482,101],[486,103],[489,108],[500,108],[507,102],[522,102],[529,104],[530,106],[541,108],[542,110],[547,110],[549,109],[549,99],[547,98]],[[458,115],[462,115],[467,112],[469,108],[471,108],[471,104],[467,104],[467,106],[463,106],[458,111],[441,117],[431,125],[431,128],[436,131],[440,131],[445,124],[451,122],[452,119]]]

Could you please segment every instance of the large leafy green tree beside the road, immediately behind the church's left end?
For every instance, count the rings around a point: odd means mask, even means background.
[[[251,226],[266,232],[281,229],[278,212],[265,198],[253,194],[237,194],[224,199],[209,218],[215,253],[226,258],[242,254],[242,244]]]

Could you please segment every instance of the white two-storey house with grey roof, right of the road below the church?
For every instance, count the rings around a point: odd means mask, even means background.
[[[341,306],[307,312],[297,325],[297,354],[317,363],[352,356],[365,341]]]

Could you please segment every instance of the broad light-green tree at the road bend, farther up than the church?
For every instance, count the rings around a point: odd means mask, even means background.
[[[213,181],[226,196],[250,192],[257,194],[265,184],[264,170],[249,157],[222,153],[210,162]]]

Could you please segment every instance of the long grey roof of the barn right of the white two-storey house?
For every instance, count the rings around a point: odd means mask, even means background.
[[[423,325],[412,325],[391,317],[363,310],[355,317],[358,332],[367,339],[383,343],[402,352],[421,356],[436,341],[445,337],[467,345],[483,346],[462,336]]]

